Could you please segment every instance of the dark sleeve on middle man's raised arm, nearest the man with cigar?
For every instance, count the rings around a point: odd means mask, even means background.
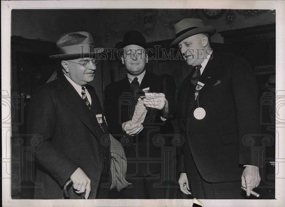
[[[177,103],[175,99],[176,84],[175,80],[171,75],[162,76],[163,93],[166,100],[168,101],[168,118],[167,120],[172,120],[176,116]],[[163,116],[163,114],[162,114]]]

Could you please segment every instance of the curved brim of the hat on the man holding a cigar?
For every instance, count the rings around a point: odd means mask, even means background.
[[[200,34],[200,33],[207,33],[210,36],[216,33],[216,29],[213,26],[201,26],[198,28],[195,28],[193,30],[190,30],[188,32],[185,32],[184,34],[180,35],[178,38],[176,38],[170,46],[176,46],[178,45],[182,40],[185,40],[188,37],[191,37],[195,34]]]

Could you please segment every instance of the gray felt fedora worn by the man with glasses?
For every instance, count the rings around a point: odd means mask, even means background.
[[[51,55],[52,59],[92,57],[104,50],[103,48],[94,48],[93,38],[88,32],[63,34],[56,41],[56,46],[60,54]]]

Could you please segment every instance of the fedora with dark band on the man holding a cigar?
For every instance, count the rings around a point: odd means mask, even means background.
[[[176,39],[170,46],[176,46],[182,40],[195,34],[207,33],[212,36],[216,32],[213,26],[205,26],[203,20],[195,18],[182,19],[174,25],[174,30]]]

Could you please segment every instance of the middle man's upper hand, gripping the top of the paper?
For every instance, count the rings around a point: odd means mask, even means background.
[[[144,105],[150,108],[163,109],[166,104],[164,93],[146,93]]]

